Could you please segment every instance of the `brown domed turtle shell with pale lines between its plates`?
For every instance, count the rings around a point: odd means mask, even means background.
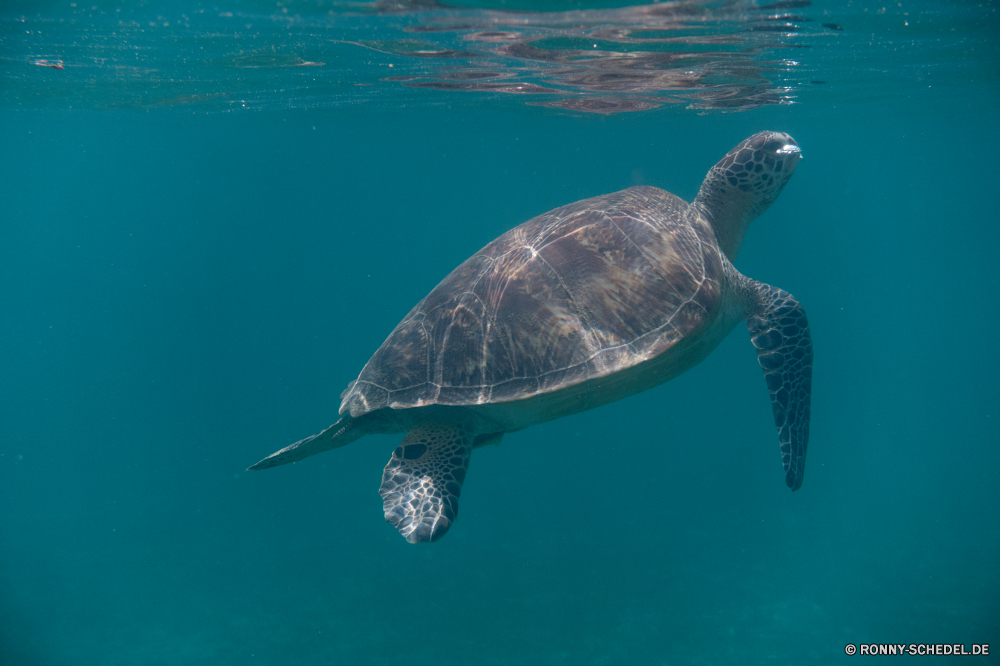
[[[711,227],[669,192],[633,187],[557,208],[420,301],[340,412],[521,400],[618,372],[698,335],[722,283]]]

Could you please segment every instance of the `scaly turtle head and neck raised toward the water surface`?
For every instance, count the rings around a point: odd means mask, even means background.
[[[750,222],[778,198],[801,156],[795,139],[787,134],[759,132],[708,172],[694,207],[711,223],[730,261],[736,258]]]

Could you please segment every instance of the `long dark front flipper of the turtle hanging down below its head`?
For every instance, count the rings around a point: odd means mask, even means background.
[[[809,400],[812,392],[812,340],[802,305],[787,291],[754,283],[757,312],[747,319],[757,361],[771,393],[778,426],[785,483],[802,486],[809,443]]]

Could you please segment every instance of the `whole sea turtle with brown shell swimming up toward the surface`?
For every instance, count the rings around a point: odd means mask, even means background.
[[[405,432],[382,474],[385,518],[409,542],[435,541],[458,515],[473,449],[673,379],[746,320],[785,483],[797,490],[809,437],[806,314],[731,262],[799,157],[787,134],[761,132],[712,167],[692,204],[630,187],[511,229],[403,318],[341,394],[336,423],[250,469]]]

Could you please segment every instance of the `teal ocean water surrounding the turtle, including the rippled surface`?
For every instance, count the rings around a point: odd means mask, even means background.
[[[995,663],[998,3],[463,4],[2,3],[0,663]],[[496,236],[763,129],[800,491],[742,325],[477,450],[433,544],[398,435],[245,471]]]

